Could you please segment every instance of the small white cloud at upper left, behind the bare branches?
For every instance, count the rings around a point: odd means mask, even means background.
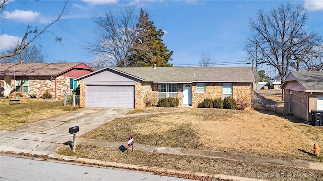
[[[40,16],[39,12],[33,12],[33,11],[15,10],[13,12],[8,12],[8,11],[3,12],[3,18],[18,20],[22,22],[34,21],[39,16]]]

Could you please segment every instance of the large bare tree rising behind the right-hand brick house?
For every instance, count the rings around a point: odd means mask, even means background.
[[[304,8],[290,3],[267,13],[259,10],[257,19],[250,19],[247,58],[275,67],[282,82],[290,71],[320,64],[322,37],[304,31],[306,19]]]

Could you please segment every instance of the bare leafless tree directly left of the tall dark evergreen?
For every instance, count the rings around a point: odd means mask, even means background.
[[[84,47],[89,55],[96,56],[90,64],[125,67],[139,32],[136,27],[138,19],[135,8],[129,6],[124,7],[119,14],[109,9],[103,14],[96,14],[93,41],[86,42]]]

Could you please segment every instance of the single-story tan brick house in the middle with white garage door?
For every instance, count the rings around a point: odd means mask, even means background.
[[[205,98],[251,100],[251,67],[106,67],[74,79],[81,107],[144,108],[147,99],[175,97],[197,107]]]

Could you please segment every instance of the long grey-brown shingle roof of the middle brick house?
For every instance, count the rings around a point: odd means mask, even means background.
[[[107,67],[154,82],[254,82],[251,67]]]

